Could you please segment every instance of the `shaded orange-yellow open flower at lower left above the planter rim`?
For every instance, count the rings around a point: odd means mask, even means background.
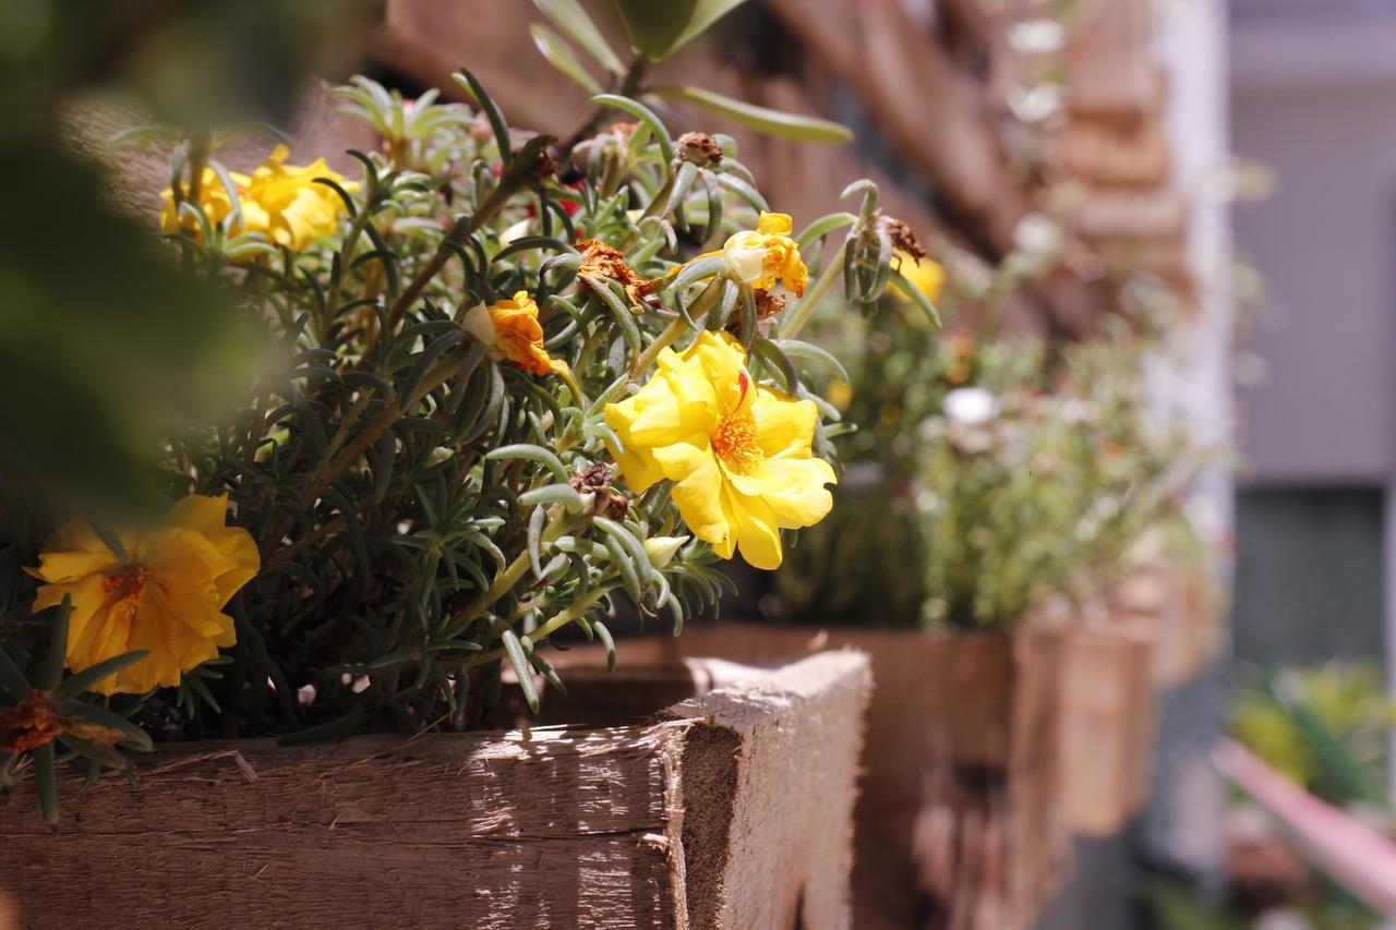
[[[121,532],[130,561],[120,560],[84,521],[59,528],[29,573],[49,584],[34,609],[73,595],[67,665],[81,672],[98,662],[148,649],[149,655],[103,679],[102,694],[140,694],[179,684],[180,674],[233,645],[233,619],[223,605],[257,574],[251,533],[225,526],[228,494],[190,494],[151,528]]]

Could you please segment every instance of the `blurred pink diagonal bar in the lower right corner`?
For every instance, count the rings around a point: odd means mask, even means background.
[[[1396,915],[1396,843],[1295,786],[1240,743],[1219,741],[1212,762],[1275,817],[1311,866]]]

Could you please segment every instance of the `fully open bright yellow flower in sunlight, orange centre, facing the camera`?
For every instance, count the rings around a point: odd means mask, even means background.
[[[779,531],[819,522],[835,476],[810,450],[814,404],[754,384],[745,359],[726,332],[664,349],[638,394],[606,406],[621,443],[607,447],[635,494],[673,480],[678,512],[719,556],[775,568]]]

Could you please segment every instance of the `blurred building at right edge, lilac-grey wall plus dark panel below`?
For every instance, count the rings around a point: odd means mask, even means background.
[[[1235,654],[1381,656],[1396,616],[1396,3],[1233,0],[1235,211],[1269,297],[1244,344]]]

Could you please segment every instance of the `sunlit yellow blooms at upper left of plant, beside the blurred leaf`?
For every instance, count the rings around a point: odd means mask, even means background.
[[[229,230],[235,236],[262,233],[278,244],[300,250],[335,230],[345,204],[339,194],[315,183],[315,179],[332,180],[350,193],[359,190],[359,184],[345,180],[322,158],[311,165],[286,165],[288,155],[290,151],[278,145],[251,176],[229,172],[243,212],[242,222]],[[187,195],[187,186],[184,193]],[[174,191],[166,187],[161,197],[161,226],[166,232],[177,232],[180,216],[174,208]],[[233,212],[228,189],[211,168],[204,169],[200,180],[198,204],[215,223]]]

